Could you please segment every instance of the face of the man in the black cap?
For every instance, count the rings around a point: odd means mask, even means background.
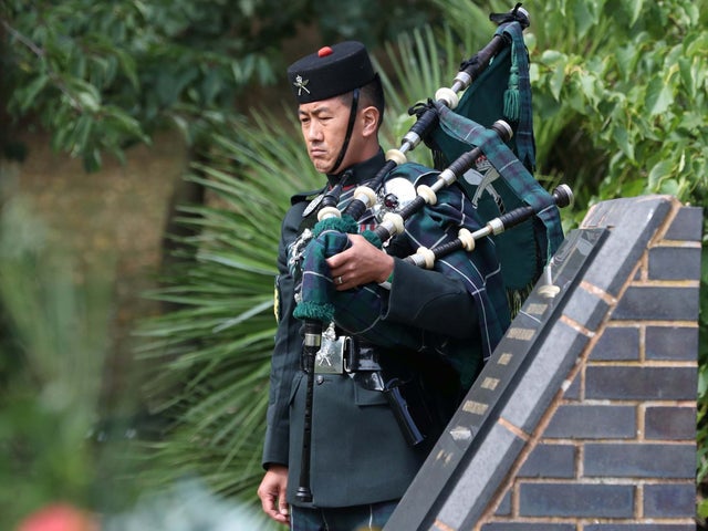
[[[340,155],[350,119],[350,106],[340,97],[303,103],[299,108],[300,128],[308,146],[308,155],[315,169],[322,174],[333,171]],[[347,152],[351,152],[351,146]],[[346,167],[347,155],[342,162]]]

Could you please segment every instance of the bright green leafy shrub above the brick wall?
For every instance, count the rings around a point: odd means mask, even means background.
[[[555,149],[539,158],[586,187],[589,205],[639,194],[702,205],[707,2],[553,3],[529,35],[539,144]],[[600,163],[579,168],[558,148],[566,137]]]

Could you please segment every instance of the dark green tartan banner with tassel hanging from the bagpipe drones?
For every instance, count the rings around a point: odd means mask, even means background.
[[[563,231],[551,195],[531,174],[535,169],[535,145],[523,29],[518,21],[511,21],[500,24],[496,33],[510,45],[465,91],[454,111],[434,103],[439,121],[427,143],[440,169],[470,148],[482,147],[486,162],[501,178],[485,181],[482,190],[477,189],[479,181],[459,179],[468,197],[478,198],[475,202],[482,219],[525,205],[539,212],[534,219],[493,237],[507,289],[523,293],[563,241]],[[500,118],[513,129],[508,144],[493,138],[496,133],[489,129]]]

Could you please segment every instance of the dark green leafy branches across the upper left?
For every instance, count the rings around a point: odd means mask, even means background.
[[[65,0],[0,6],[7,111],[35,117],[56,150],[82,157],[87,170],[104,154],[149,143],[176,124],[190,143],[201,113],[238,112],[247,87],[273,84],[284,71],[282,42],[299,23],[324,38],[357,35],[369,44],[430,15],[425,2],[367,0]],[[412,10],[406,13],[406,10]],[[9,142],[9,140],[8,140]]]

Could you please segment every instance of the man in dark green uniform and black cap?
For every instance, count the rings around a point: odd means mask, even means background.
[[[381,528],[508,327],[507,292],[489,238],[430,269],[406,258],[485,226],[459,186],[438,189],[435,205],[386,241],[371,230],[437,170],[402,164],[362,216],[319,217],[346,211],[386,164],[383,90],[357,42],[323,48],[288,75],[327,184],[293,197],[282,223],[258,494],[267,514],[295,531]]]

